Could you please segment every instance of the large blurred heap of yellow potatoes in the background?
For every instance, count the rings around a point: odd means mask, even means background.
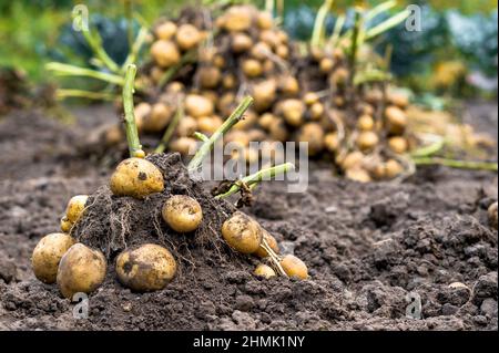
[[[404,172],[397,156],[410,148],[408,97],[376,85],[354,87],[340,46],[303,53],[269,13],[253,6],[230,7],[216,18],[184,10],[153,33],[152,62],[140,80],[156,89],[136,104],[135,115],[141,133],[161,138],[181,110],[169,150],[186,156],[195,148],[194,132],[213,134],[249,94],[253,106],[224,139],[237,143],[248,163],[258,157],[249,142],[293,141],[307,142],[312,157],[330,159],[358,181]],[[193,53],[195,60],[186,61]]]

